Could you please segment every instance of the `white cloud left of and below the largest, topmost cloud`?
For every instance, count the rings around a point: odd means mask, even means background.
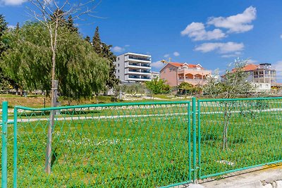
[[[187,25],[185,30],[181,31],[180,33],[183,36],[188,35],[188,37],[192,38],[194,41],[222,39],[226,37],[226,34],[219,29],[207,31],[203,23],[194,22],[190,25]]]

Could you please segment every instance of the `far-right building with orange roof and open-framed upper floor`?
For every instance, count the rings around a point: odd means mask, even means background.
[[[243,70],[249,73],[247,80],[255,84],[259,92],[271,91],[271,87],[276,86],[276,70],[271,68],[271,63],[248,64]]]

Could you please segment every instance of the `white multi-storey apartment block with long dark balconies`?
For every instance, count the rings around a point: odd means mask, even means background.
[[[116,77],[121,82],[144,82],[151,80],[151,56],[125,53],[116,57]]]

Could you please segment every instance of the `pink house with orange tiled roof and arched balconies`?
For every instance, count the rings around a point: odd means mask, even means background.
[[[212,75],[212,70],[204,70],[202,65],[168,62],[159,71],[160,78],[166,80],[171,87],[176,87],[182,82],[188,82],[193,86],[207,84],[207,77]]]

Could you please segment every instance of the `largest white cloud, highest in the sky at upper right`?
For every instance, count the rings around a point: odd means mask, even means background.
[[[253,20],[257,18],[257,9],[250,6],[243,13],[231,15],[229,17],[209,18],[207,24],[215,27],[223,27],[228,29],[228,32],[247,32],[252,30],[254,25],[251,25]]]

